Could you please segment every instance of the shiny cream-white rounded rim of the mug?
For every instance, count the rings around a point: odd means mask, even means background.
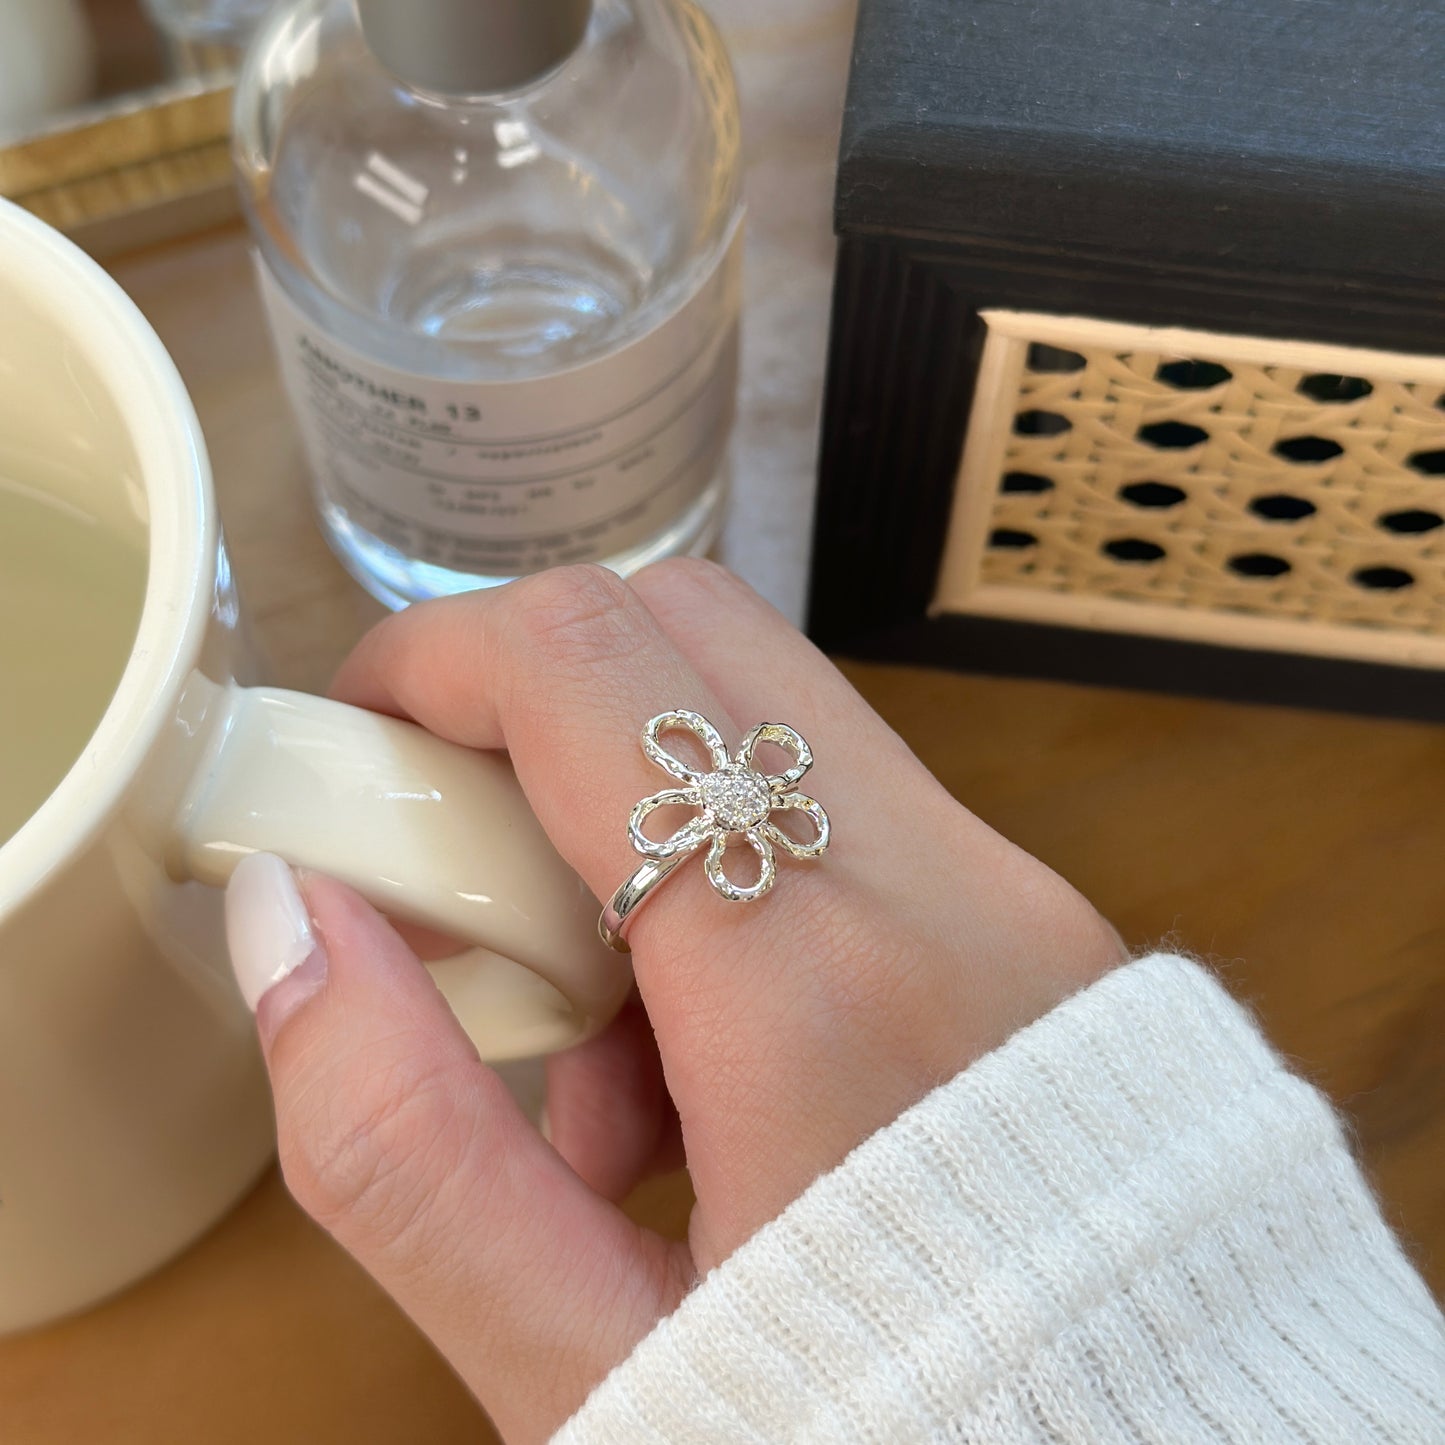
[[[25,288],[104,380],[146,496],[146,592],[126,668],[65,776],[0,842],[3,919],[94,841],[173,717],[199,656],[220,535],[191,396],[120,283],[74,241],[4,199],[0,276]]]

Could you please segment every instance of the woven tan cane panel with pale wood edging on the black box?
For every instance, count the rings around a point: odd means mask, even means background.
[[[1445,665],[1445,358],[985,321],[935,610]]]

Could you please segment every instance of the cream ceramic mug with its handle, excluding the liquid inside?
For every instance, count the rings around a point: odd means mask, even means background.
[[[0,202],[0,474],[17,467],[142,527],[149,575],[110,707],[0,847],[0,1331],[146,1273],[269,1160],[221,935],[218,884],[247,853],[484,945],[434,974],[487,1058],[575,1042],[630,981],[503,759],[237,685],[241,618],[181,377],[98,266]]]

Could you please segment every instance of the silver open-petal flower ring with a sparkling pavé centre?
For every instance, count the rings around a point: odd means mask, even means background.
[[[663,733],[685,728],[707,749],[711,769],[692,767],[669,753],[659,741]],[[776,743],[792,754],[793,766],[782,773],[763,773],[753,766],[759,743]],[[777,880],[775,850],[782,848],[795,858],[816,858],[828,847],[828,815],[806,793],[795,792],[795,785],[812,767],[812,751],[802,736],[782,722],[759,722],[734,757],[718,730],[701,714],[678,709],[659,712],[642,731],[642,750],[665,773],[670,773],[682,788],[668,788],[643,798],[627,821],[631,845],[647,860],[614,894],[603,910],[598,931],[613,948],[626,951],[624,925],[643,899],[686,857],[707,842],[704,864],[708,881],[730,903],[760,899]],[[670,838],[649,838],[643,822],[659,808],[696,808],[698,815],[685,822]],[[811,842],[790,838],[775,824],[773,814],[801,812],[814,825]],[[734,883],[722,871],[728,844],[743,838],[757,854],[759,874],[751,884]]]

